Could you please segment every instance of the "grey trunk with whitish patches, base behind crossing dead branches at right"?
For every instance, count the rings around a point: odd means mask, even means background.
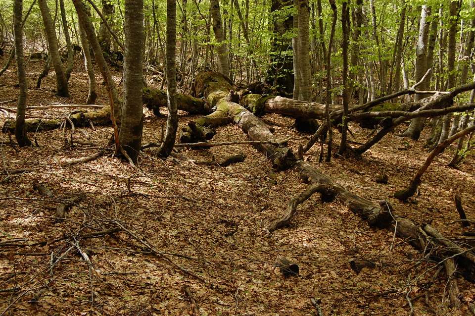
[[[419,35],[417,39],[416,47],[416,82],[419,82],[427,72],[427,42],[429,35],[429,22],[427,17],[430,15],[430,8],[427,5],[423,5],[421,8],[421,18],[419,20]],[[427,90],[428,81],[427,78],[420,85],[421,90]],[[416,95],[416,101],[424,98],[423,95]],[[418,140],[421,136],[421,131],[424,128],[426,118],[417,117],[411,120],[409,127],[401,134],[401,136],[408,136],[414,140]]]

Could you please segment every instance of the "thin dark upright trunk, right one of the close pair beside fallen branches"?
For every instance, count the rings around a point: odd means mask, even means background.
[[[343,33],[342,55],[343,55],[343,72],[341,74],[341,81],[343,84],[343,126],[341,127],[341,143],[338,149],[338,155],[342,155],[346,151],[346,136],[348,129],[348,42],[349,42],[349,7],[348,2],[343,1],[341,5],[341,30]]]

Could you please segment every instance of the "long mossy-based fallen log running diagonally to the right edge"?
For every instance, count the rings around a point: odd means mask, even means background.
[[[275,139],[268,126],[258,117],[242,106],[229,101],[232,97],[228,97],[226,92],[231,92],[232,86],[227,83],[221,74],[213,72],[199,73],[193,90],[204,96],[207,102],[213,104],[213,106],[216,105],[215,112],[198,119],[200,123],[217,124],[217,122],[220,122],[225,124],[234,122],[251,140],[267,141]],[[195,122],[198,120],[195,120]],[[385,227],[395,232],[397,236],[407,239],[409,244],[421,252],[432,251],[441,260],[448,260],[449,257],[454,259],[461,264],[461,267],[467,271],[472,271],[472,274],[467,273],[465,276],[467,279],[472,277],[473,280],[473,267],[475,266],[473,258],[475,255],[471,249],[457,246],[429,225],[421,227],[409,219],[397,217],[386,201],[380,201],[376,204],[347,191],[309,163],[295,158],[286,144],[280,146],[256,144],[256,148],[272,161],[275,169],[292,168],[300,174],[304,182],[313,185],[314,189],[319,188],[324,194],[323,200],[331,199],[332,195],[335,194],[336,199],[350,211],[359,214],[369,225]],[[434,234],[438,234],[438,237],[433,237]],[[442,263],[440,262],[440,264]]]

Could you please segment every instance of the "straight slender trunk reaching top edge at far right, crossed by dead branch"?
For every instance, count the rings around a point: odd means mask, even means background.
[[[456,77],[454,73],[455,69],[455,44],[457,41],[457,26],[458,26],[458,16],[459,16],[459,2],[450,1],[449,5],[449,15],[450,15],[450,28],[449,28],[449,40],[448,40],[448,50],[447,50],[447,88],[451,89],[455,87]],[[444,117],[444,122],[442,124],[442,132],[440,133],[439,144],[443,143],[450,133],[450,121],[452,119],[452,114],[447,114]]]

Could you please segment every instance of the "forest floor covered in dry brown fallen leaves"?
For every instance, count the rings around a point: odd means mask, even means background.
[[[42,89],[33,88],[42,67],[39,60],[28,64],[28,105],[85,102],[87,75],[80,58],[68,99],[54,96],[52,71]],[[119,71],[114,78],[119,83]],[[0,102],[17,98],[16,80],[13,64],[0,77]],[[102,82],[98,75],[97,81]],[[108,104],[102,85],[96,104]],[[14,109],[16,102],[0,106]],[[70,110],[28,110],[27,116],[63,117]],[[142,143],[156,142],[166,117],[144,111]],[[185,114],[180,113],[180,129],[196,117]],[[301,136],[290,118],[263,119],[275,125],[279,138]],[[1,125],[4,120],[0,115]],[[428,133],[414,142],[397,136],[403,128],[361,159],[319,164],[318,146],[306,158],[351,192],[372,201],[388,199],[399,215],[431,222],[448,237],[460,236],[467,228],[448,223],[459,219],[455,194],[475,218],[474,156],[453,169],[446,166],[453,149],[447,150],[424,175],[420,194],[401,203],[392,194],[409,183],[427,157]],[[111,156],[61,167],[64,159],[94,154],[112,133],[111,127],[80,130],[73,135],[74,146],[69,129],[67,141],[62,130],[32,133],[39,147],[20,150],[9,145],[8,135],[0,136],[0,174],[34,169],[0,176],[0,315],[194,315],[194,306],[200,315],[318,315],[312,298],[321,300],[324,315],[409,315],[408,299],[414,315],[464,315],[466,302],[475,301],[474,284],[459,278],[464,306],[448,308],[444,270],[392,232],[368,227],[339,202],[322,203],[316,195],[299,206],[289,227],[269,234],[265,227],[306,185],[294,172],[274,172],[248,145],[183,150],[165,160],[146,150],[140,156],[142,171]],[[359,142],[368,134],[358,126],[351,130]],[[228,125],[217,130],[213,142],[245,140],[237,126]],[[290,146],[296,149],[298,143]],[[238,153],[246,155],[244,162],[199,164]],[[389,176],[387,185],[374,181],[380,173]],[[46,184],[53,196],[34,191],[35,182]],[[56,206],[78,194],[83,199],[56,222]],[[122,231],[83,238],[113,227]],[[42,240],[47,242],[34,245]],[[6,242],[28,245],[7,247]],[[279,257],[298,263],[299,275],[285,278],[274,267]],[[356,274],[349,261],[361,258],[377,266]]]

